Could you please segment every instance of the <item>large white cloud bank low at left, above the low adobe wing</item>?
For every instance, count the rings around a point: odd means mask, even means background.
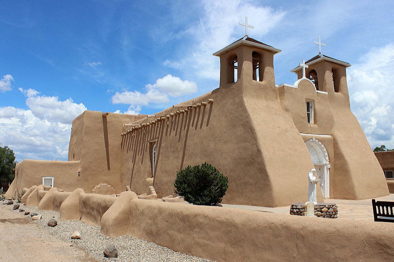
[[[67,160],[72,120],[86,107],[71,98],[39,95],[34,89],[19,88],[28,109],[0,107],[0,142],[23,159]]]

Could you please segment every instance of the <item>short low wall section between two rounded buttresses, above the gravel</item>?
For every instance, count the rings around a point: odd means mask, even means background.
[[[100,225],[102,215],[112,206],[117,197],[99,194],[80,193],[79,210],[81,220]]]

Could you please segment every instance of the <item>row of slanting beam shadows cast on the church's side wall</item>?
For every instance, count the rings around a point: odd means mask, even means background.
[[[190,128],[203,129],[208,127],[212,110],[213,103],[206,103],[206,105],[198,104],[196,107],[189,107],[188,110],[179,110],[169,114],[169,117],[163,117],[156,119],[157,122],[147,125],[139,129],[135,129],[131,133],[123,136],[121,142],[121,149],[132,152],[132,172],[134,174],[134,167],[136,164],[137,156],[141,156],[141,164],[144,161],[144,155],[149,146],[149,142],[156,140],[157,146],[157,158],[155,163],[160,165],[160,148],[162,146],[163,137],[178,137],[178,142],[181,142],[181,137],[184,133],[184,142],[182,150],[182,161],[180,163],[179,170],[183,169],[183,163],[186,153],[186,144],[188,142],[188,135]],[[168,116],[168,115],[167,115]],[[156,121],[155,120],[155,121]],[[150,149],[151,152],[151,149]],[[156,167],[157,168],[157,167]],[[132,177],[130,178],[131,185]]]

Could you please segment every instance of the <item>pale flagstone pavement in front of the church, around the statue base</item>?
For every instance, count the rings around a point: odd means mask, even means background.
[[[390,194],[384,197],[376,197],[375,200],[394,202],[394,194]],[[372,211],[372,198],[363,200],[325,199],[324,202],[335,203],[338,206],[338,219],[374,221],[374,212]],[[222,206],[228,208],[240,208],[273,213],[284,213],[290,215],[290,206],[282,206],[278,208],[229,204],[222,204]]]

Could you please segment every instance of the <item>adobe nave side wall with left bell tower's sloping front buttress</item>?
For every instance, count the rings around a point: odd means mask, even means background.
[[[252,51],[247,47],[238,52],[238,60]],[[285,206],[305,202],[307,174],[314,167],[309,152],[292,119],[281,109],[275,83],[270,80],[272,65],[266,66],[261,82],[252,80],[251,68],[251,59],[246,60],[238,65],[236,83],[180,103],[196,105],[213,99],[212,104],[162,118],[123,136],[123,185],[131,183],[138,195],[146,192],[152,177],[150,142],[157,140],[153,185],[158,197],[172,195],[179,170],[207,162],[229,177],[223,203]],[[158,114],[184,109],[169,108]],[[320,189],[318,194],[321,201]]]

